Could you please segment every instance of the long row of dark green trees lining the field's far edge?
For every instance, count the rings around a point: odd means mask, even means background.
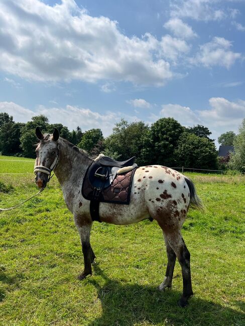
[[[27,123],[13,121],[6,112],[0,113],[0,151],[3,155],[35,157],[35,128],[51,133],[56,127],[60,136],[96,156],[103,152],[117,160],[136,156],[137,164],[159,164],[169,167],[218,169],[219,161],[211,132],[203,125],[184,127],[174,118],[160,118],[151,126],[143,121],[121,119],[108,137],[100,129],[82,132],[78,126],[70,131],[61,123],[50,124],[44,115],[32,117]],[[244,122],[245,128],[245,122]],[[232,131],[218,138],[221,144],[233,144],[239,139]],[[239,141],[240,142],[240,141]],[[233,159],[231,157],[231,159]],[[234,159],[233,159],[234,161]],[[239,165],[239,164],[238,164]]]

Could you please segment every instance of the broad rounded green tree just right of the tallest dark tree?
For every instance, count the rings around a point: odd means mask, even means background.
[[[215,169],[217,150],[215,144],[206,137],[184,132],[174,151],[177,164],[188,168]]]

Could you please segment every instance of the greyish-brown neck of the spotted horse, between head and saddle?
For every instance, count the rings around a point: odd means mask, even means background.
[[[54,173],[63,188],[65,185],[80,183],[91,159],[84,153],[75,150],[63,140],[59,140],[59,160]]]

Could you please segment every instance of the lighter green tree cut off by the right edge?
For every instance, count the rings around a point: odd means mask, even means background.
[[[230,156],[230,168],[245,173],[245,118],[234,139],[234,153],[231,153]]]

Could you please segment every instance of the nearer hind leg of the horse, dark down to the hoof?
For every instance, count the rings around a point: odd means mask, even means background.
[[[182,269],[183,294],[179,299],[179,305],[184,307],[188,304],[189,297],[193,294],[191,286],[190,253],[180,232],[165,233],[168,243],[174,250]]]

